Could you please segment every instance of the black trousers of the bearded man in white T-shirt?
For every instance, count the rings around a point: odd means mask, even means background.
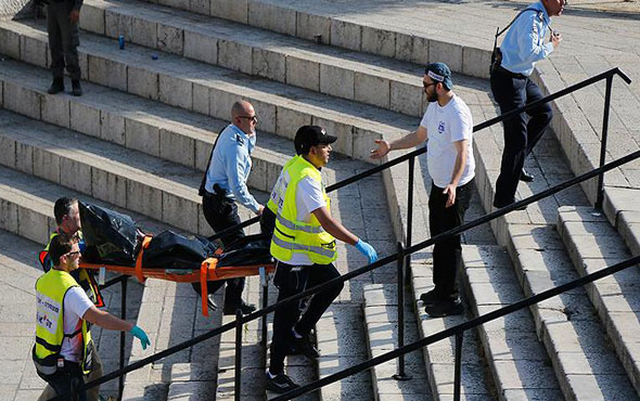
[[[473,190],[473,180],[456,189],[456,202],[445,207],[448,195],[444,189],[431,186],[428,195],[428,224],[431,236],[435,236],[462,224],[464,214],[469,209]],[[458,266],[461,256],[460,235],[438,242],[433,248],[433,282],[436,294],[441,297],[457,298]]]

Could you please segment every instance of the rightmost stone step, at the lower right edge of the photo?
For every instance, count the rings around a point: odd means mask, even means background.
[[[559,210],[558,231],[580,275],[586,275],[631,257],[618,233],[606,217],[590,207],[564,206]],[[619,361],[636,391],[640,392],[638,370],[637,305],[635,290],[640,284],[638,267],[630,267],[614,275],[586,286]],[[587,361],[585,361],[587,362]]]

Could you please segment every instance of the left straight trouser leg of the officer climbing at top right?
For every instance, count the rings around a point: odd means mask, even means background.
[[[502,74],[491,75],[491,91],[501,114],[522,107],[526,102],[526,79]],[[527,148],[527,117],[524,113],[504,120],[504,151],[496,182],[494,206],[503,207],[515,200],[517,183]]]

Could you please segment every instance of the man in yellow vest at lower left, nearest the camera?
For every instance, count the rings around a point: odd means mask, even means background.
[[[98,310],[74,280],[71,273],[78,269],[80,257],[77,242],[56,235],[49,256],[53,267],[36,282],[36,344],[31,355],[38,375],[48,383],[38,401],[68,392],[77,392],[77,400],[86,401],[85,381],[89,381],[97,355],[88,323],[130,332],[140,339],[142,349],[151,342],[133,323]]]

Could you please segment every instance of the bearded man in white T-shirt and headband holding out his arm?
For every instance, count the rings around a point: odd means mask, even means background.
[[[428,64],[422,85],[430,103],[418,129],[391,143],[376,140],[377,148],[371,151],[371,157],[382,158],[389,151],[415,147],[428,139],[428,225],[431,235],[436,236],[462,224],[469,208],[475,177],[473,119],[466,104],[451,91],[451,70],[446,64]],[[464,312],[457,283],[460,253],[460,235],[434,245],[435,287],[420,296],[426,313],[434,318]]]

